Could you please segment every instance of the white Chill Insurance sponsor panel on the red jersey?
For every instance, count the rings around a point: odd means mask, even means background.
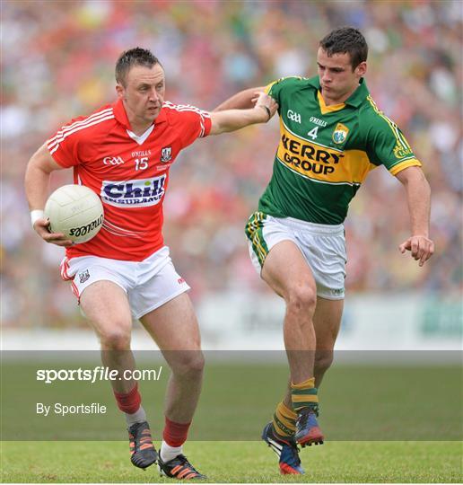
[[[116,207],[149,207],[159,204],[164,195],[166,175],[135,181],[103,181],[100,197]]]

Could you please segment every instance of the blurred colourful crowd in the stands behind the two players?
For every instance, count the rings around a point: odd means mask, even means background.
[[[461,289],[463,4],[429,0],[57,0],[2,2],[1,299],[7,327],[81,322],[61,281],[63,250],[31,230],[23,174],[31,154],[75,116],[113,101],[114,65],[150,48],[166,99],[212,110],[233,93],[284,75],[315,75],[319,40],[353,25],[370,46],[367,84],[405,132],[432,186],[436,253],[418,268],[397,247],[409,234],[406,198],[383,167],[351,205],[350,292]],[[194,301],[216,291],[266,292],[243,227],[272,173],[268,125],[198,140],[171,170],[165,239]],[[52,188],[72,181],[53,174]]]

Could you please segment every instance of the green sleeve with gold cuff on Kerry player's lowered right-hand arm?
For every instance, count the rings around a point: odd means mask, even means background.
[[[412,148],[408,145],[406,137],[389,119],[372,105],[374,112],[366,118],[367,128],[366,151],[370,162],[375,165],[384,165],[392,175],[411,166],[421,166],[416,159]]]

